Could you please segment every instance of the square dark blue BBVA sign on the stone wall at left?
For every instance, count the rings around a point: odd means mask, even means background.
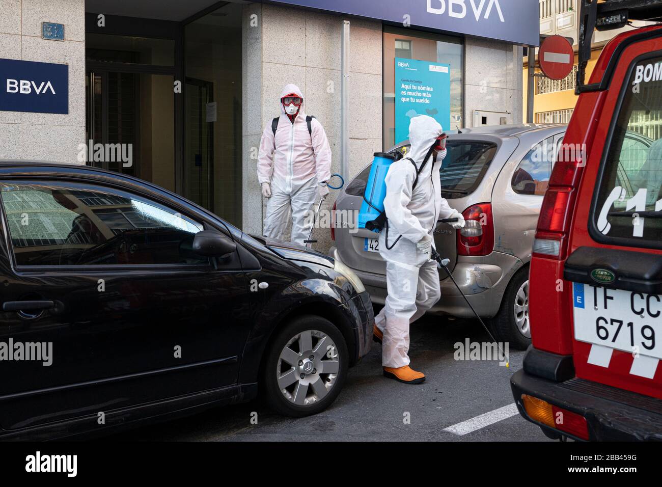
[[[69,66],[0,59],[0,110],[69,113]]]

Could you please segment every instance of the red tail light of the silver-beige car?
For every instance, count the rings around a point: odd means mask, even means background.
[[[495,248],[491,203],[479,203],[462,212],[467,225],[457,232],[458,255],[489,255]]]

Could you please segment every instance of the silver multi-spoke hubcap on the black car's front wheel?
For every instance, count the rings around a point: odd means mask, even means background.
[[[308,406],[324,399],[336,384],[340,358],[328,335],[306,330],[293,337],[281,351],[276,378],[289,402]]]

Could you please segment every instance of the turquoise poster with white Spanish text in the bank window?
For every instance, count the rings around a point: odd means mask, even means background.
[[[449,64],[395,58],[395,143],[409,138],[409,123],[430,115],[444,131],[451,125]]]

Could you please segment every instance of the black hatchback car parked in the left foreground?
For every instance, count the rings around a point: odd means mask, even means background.
[[[371,346],[355,274],[153,184],[0,163],[0,438],[107,433],[260,391],[322,411]]]

